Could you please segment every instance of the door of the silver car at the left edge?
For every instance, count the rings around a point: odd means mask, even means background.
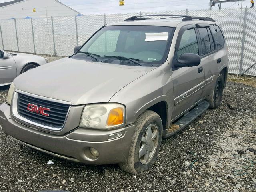
[[[17,76],[14,58],[4,59],[4,52],[0,50],[0,84],[11,83]]]

